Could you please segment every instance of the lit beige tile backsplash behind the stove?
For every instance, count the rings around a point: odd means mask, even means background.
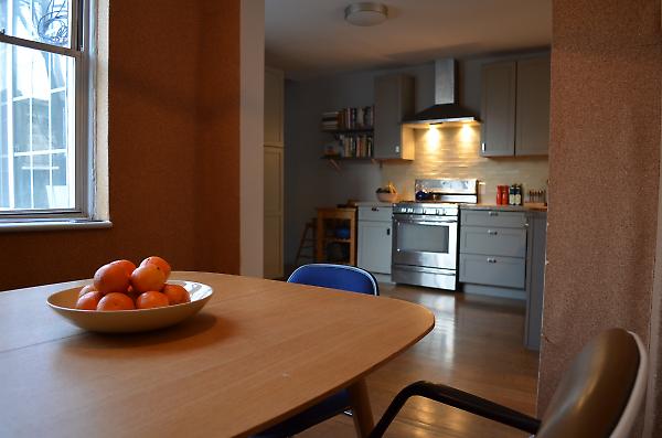
[[[546,189],[547,157],[483,158],[480,156],[480,127],[416,129],[416,158],[413,162],[385,162],[383,183],[392,181],[399,200],[414,199],[414,180],[433,178],[476,178],[479,202],[493,204],[499,184],[523,184],[528,190]]]

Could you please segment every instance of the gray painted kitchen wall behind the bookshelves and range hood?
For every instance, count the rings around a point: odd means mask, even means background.
[[[540,52],[537,52],[540,53]],[[533,54],[533,53],[532,53]],[[480,72],[484,63],[524,57],[520,54],[460,61],[459,102],[480,111]],[[322,148],[332,136],[321,132],[323,111],[374,104],[375,76],[405,73],[415,77],[416,110],[434,104],[434,63],[405,68],[346,73],[303,82],[287,81],[285,87],[285,264],[293,265],[306,222],[316,207],[333,206],[349,199],[374,201],[375,190],[386,183],[378,164],[341,162],[337,171],[322,160]],[[409,165],[403,163],[402,165]]]

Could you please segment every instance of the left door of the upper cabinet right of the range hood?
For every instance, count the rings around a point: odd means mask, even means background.
[[[482,70],[481,156],[515,153],[514,62],[489,64]]]

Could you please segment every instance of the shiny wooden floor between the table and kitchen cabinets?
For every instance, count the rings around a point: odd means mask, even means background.
[[[465,296],[435,289],[381,285],[385,297],[418,302],[435,313],[431,333],[367,378],[375,421],[395,394],[426,380],[455,386],[535,415],[538,359],[523,348],[521,301]],[[341,415],[298,437],[355,437]],[[386,437],[527,437],[496,423],[420,397],[410,399]]]

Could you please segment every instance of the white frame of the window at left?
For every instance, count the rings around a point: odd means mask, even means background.
[[[11,0],[10,0],[11,1]],[[96,85],[96,1],[71,0],[70,44],[51,45],[8,35],[0,30],[0,43],[39,50],[74,58],[74,159],[73,209],[30,209],[0,212],[0,228],[31,223],[94,221],[95,217],[95,85]],[[67,160],[71,160],[67,157]]]

